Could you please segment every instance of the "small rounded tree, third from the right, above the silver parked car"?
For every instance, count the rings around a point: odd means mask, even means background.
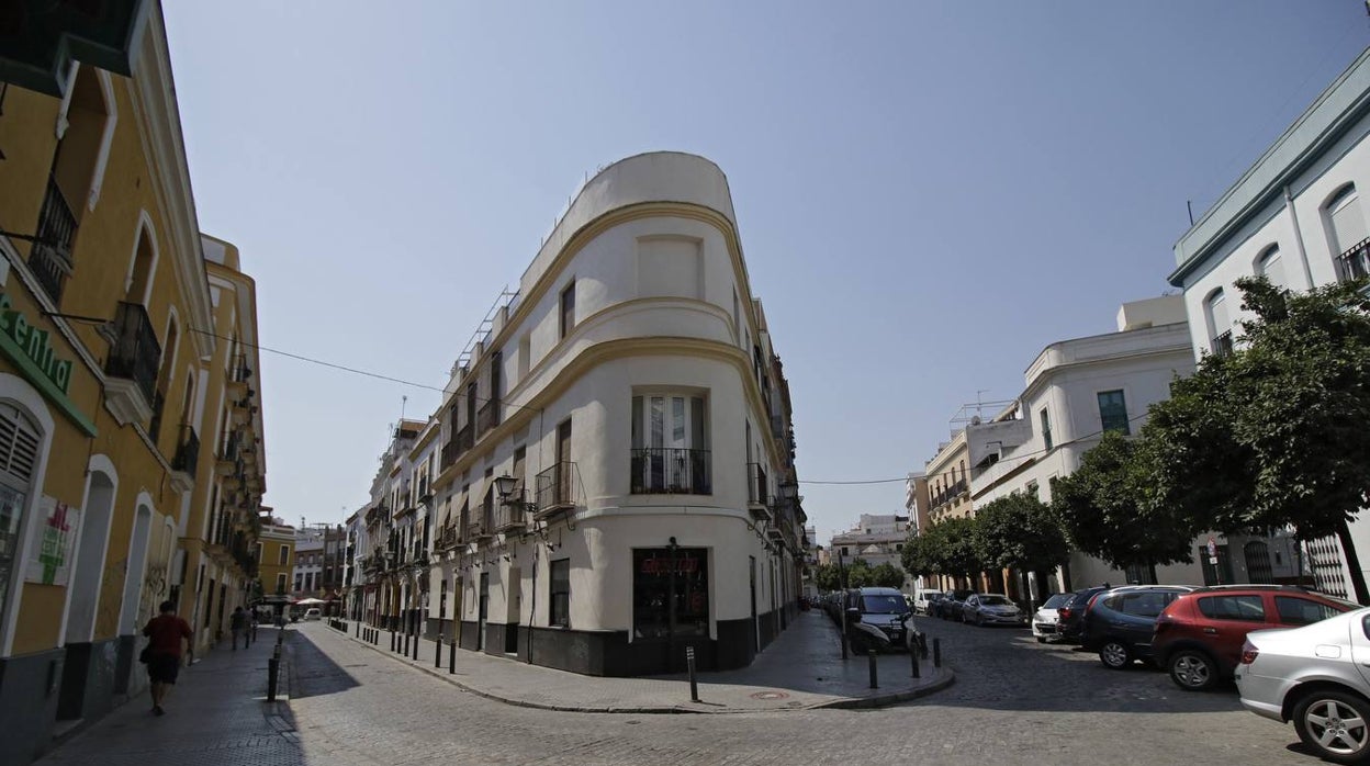
[[[1060,518],[1036,495],[1025,492],[977,508],[975,539],[989,566],[1018,570],[1023,593],[1029,571],[1051,571],[1070,556]]]

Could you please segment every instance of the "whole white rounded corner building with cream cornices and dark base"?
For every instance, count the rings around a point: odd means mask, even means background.
[[[723,173],[669,152],[604,169],[477,336],[415,467],[432,492],[388,502],[423,506],[425,552],[360,562],[427,569],[397,614],[580,673],[680,670],[686,648],[748,665],[796,613],[808,541]]]

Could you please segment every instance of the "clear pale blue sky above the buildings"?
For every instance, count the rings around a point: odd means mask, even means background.
[[[1195,218],[1367,45],[1360,0],[164,0],[200,227],[258,282],[266,504],[367,502],[588,175],[727,174],[818,541],[948,421],[1171,289]],[[429,386],[429,388],[423,388]],[[884,484],[818,484],[899,480]]]

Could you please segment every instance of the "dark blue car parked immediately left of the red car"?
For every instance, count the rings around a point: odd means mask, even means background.
[[[1080,643],[1099,652],[1104,667],[1122,670],[1134,659],[1151,659],[1156,618],[1192,585],[1128,585],[1104,591],[1085,607]]]

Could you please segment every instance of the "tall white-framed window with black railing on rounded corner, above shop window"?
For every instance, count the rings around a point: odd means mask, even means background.
[[[634,396],[632,492],[712,493],[708,410],[703,396]]]

